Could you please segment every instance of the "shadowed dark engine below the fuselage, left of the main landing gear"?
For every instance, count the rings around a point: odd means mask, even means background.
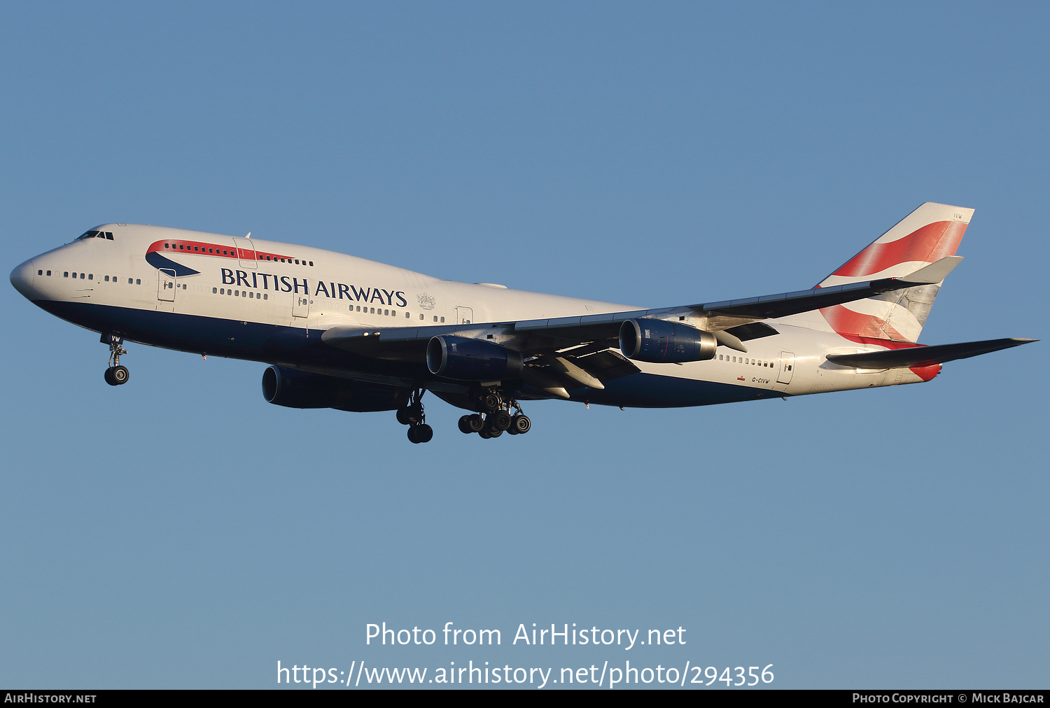
[[[271,366],[262,372],[262,398],[288,408],[336,408],[360,413],[397,410],[407,404],[410,392],[407,388],[365,384],[284,366]]]

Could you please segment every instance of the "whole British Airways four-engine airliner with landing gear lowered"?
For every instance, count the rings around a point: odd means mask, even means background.
[[[519,402],[664,408],[931,380],[1035,340],[918,344],[972,209],[924,203],[817,286],[647,309],[460,283],[303,245],[107,223],[10,274],[43,309],[125,341],[265,362],[293,408],[396,410],[425,443],[424,391],[464,433],[528,432]]]

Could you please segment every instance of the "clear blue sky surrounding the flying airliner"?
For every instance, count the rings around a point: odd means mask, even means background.
[[[252,232],[639,305],[810,287],[974,208],[922,341],[1047,336],[1041,3],[6,3],[0,254],[106,221]],[[5,272],[7,272],[5,271]],[[0,288],[0,685],[284,665],[737,666],[779,687],[1046,687],[1044,342],[933,382],[678,410],[266,404],[260,364]],[[382,648],[369,622],[499,628]],[[509,646],[519,623],[686,646]],[[432,669],[433,670],[433,669]],[[716,684],[717,685],[717,684]]]

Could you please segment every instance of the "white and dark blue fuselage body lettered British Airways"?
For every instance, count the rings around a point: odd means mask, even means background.
[[[441,382],[425,368],[362,362],[320,341],[334,326],[443,327],[513,323],[638,307],[440,280],[309,246],[135,224],[86,238],[26,261],[12,274],[28,299],[102,334],[198,353],[249,359],[374,383],[421,387]],[[816,314],[815,314],[816,315]],[[723,346],[713,360],[634,362],[640,373],[574,400],[622,406],[690,406],[927,381],[936,371],[858,370],[828,353],[880,350],[805,318],[765,320],[779,334],[742,353]],[[496,341],[508,336],[496,329]],[[539,395],[532,398],[541,398]]]

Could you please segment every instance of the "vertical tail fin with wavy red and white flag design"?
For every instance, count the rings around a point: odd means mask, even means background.
[[[954,256],[972,209],[926,202],[845,262],[817,287],[906,276],[945,256]],[[855,339],[916,342],[941,283],[894,291],[824,307],[820,314],[838,334]]]

